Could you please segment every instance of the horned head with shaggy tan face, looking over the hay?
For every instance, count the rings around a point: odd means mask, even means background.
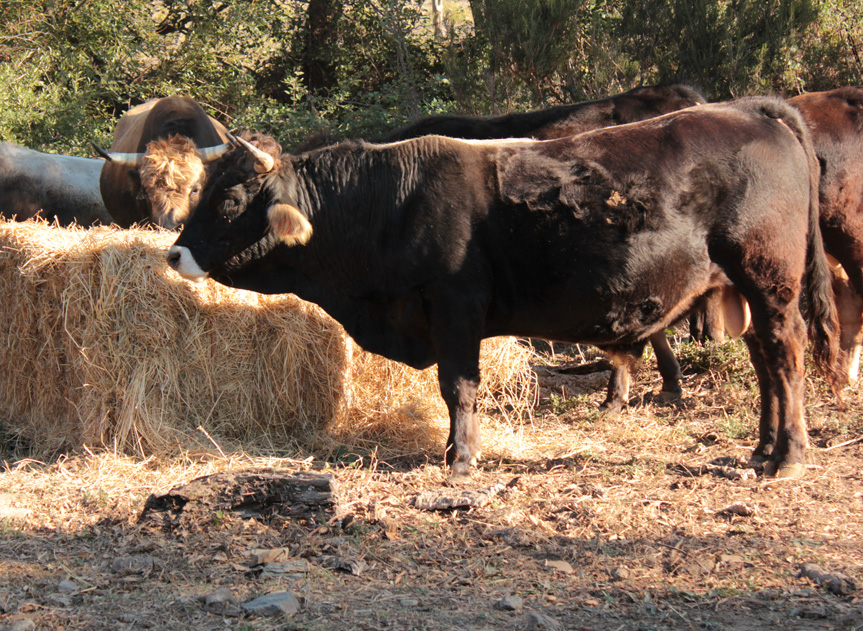
[[[173,230],[188,219],[198,204],[207,177],[208,162],[222,156],[231,143],[199,149],[185,136],[170,136],[147,143],[144,153],[99,151],[107,160],[128,166],[128,176],[146,201],[150,221]]]

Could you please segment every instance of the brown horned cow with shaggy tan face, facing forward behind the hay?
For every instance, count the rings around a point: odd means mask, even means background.
[[[206,164],[229,147],[228,131],[194,100],[152,99],[124,114],[105,157],[100,186],[114,222],[174,229],[198,202]]]

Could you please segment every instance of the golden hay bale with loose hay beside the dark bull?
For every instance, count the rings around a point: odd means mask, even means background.
[[[0,222],[0,422],[40,453],[171,455],[206,442],[284,452],[340,441],[441,450],[434,369],[355,347],[320,308],[164,263],[175,235]],[[530,352],[484,344],[483,411],[523,413]],[[442,436],[441,436],[442,434]]]

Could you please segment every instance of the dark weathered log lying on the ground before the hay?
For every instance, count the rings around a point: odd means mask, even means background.
[[[333,516],[338,499],[330,474],[274,470],[216,473],[165,495],[151,495],[139,521],[166,528],[203,527],[226,515],[262,521],[275,516],[316,520]]]

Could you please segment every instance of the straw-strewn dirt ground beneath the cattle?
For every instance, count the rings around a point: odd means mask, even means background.
[[[467,489],[437,450],[39,462],[7,446],[0,629],[861,630],[863,398],[841,410],[810,378],[807,474],[765,480],[742,348],[679,346],[671,403],[648,360],[616,418],[598,410],[607,373],[538,368],[532,418],[486,419],[484,437],[543,446],[492,450]],[[141,519],[151,496],[246,470],[332,474],[337,506]],[[418,506],[441,489],[487,503]],[[286,591],[295,613],[242,607]]]

